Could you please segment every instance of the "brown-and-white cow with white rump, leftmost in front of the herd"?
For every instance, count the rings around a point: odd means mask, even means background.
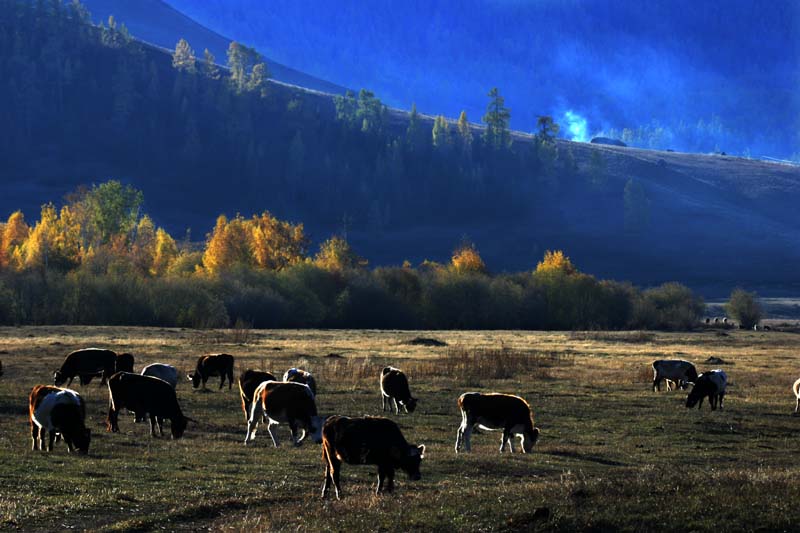
[[[31,450],[44,449],[45,431],[49,432],[47,451],[53,451],[56,435],[64,437],[67,450],[89,452],[92,438],[86,428],[86,404],[80,394],[52,385],[36,385],[28,398],[31,423]]]

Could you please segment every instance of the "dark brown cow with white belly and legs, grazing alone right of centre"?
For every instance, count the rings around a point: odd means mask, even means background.
[[[539,428],[533,425],[533,411],[528,402],[519,396],[510,394],[466,392],[459,396],[458,407],[461,409],[461,426],[456,434],[456,453],[464,443],[464,449],[470,451],[470,437],[475,426],[488,431],[502,431],[500,452],[508,443],[514,453],[513,437],[519,437],[522,453],[530,453],[539,439]]]

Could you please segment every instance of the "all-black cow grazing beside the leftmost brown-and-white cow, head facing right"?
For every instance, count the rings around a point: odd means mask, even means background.
[[[186,430],[189,417],[184,416],[175,389],[166,381],[152,376],[141,376],[129,372],[117,372],[108,380],[109,407],[106,426],[108,431],[118,432],[117,420],[122,409],[133,411],[137,419],[147,413],[150,416],[150,436],[155,428],[164,434],[165,418],[170,420],[172,438],[179,439]]]

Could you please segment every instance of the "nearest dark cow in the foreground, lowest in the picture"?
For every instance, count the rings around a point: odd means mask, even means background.
[[[339,475],[342,463],[377,465],[378,488],[394,490],[394,472],[401,469],[411,481],[419,481],[419,466],[425,457],[425,445],[409,444],[400,428],[388,418],[366,416],[350,418],[332,416],[322,428],[322,460],[325,463],[325,485],[322,497],[328,494],[331,483],[339,499],[342,487]]]

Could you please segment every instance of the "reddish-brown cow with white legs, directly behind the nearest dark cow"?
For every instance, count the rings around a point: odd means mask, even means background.
[[[272,426],[282,423],[289,425],[295,446],[300,446],[309,433],[314,442],[322,442],[324,419],[317,416],[317,404],[308,385],[289,381],[265,381],[256,387],[250,407],[250,419],[247,421],[245,444],[256,438],[258,421],[262,417],[267,422],[267,431],[276,448],[279,446],[278,437]],[[298,430],[303,431],[299,438]]]

